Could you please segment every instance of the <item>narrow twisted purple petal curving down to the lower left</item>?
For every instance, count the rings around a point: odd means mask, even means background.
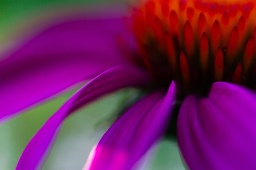
[[[23,151],[16,169],[33,170],[38,166],[58,127],[71,112],[108,92],[122,87],[144,86],[148,82],[147,74],[131,66],[116,66],[103,72],[69,99],[35,134]]]

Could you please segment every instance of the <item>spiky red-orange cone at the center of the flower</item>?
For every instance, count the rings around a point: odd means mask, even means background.
[[[183,95],[205,95],[216,81],[255,88],[255,5],[245,0],[143,1],[132,9],[139,63],[161,86],[176,80]]]

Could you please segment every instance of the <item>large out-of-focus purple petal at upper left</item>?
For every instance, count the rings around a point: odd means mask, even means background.
[[[76,19],[6,52],[0,60],[0,119],[123,64],[116,37],[125,33],[121,18]]]

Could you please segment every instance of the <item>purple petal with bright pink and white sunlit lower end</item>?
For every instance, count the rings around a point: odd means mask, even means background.
[[[125,112],[103,135],[84,169],[131,169],[163,134],[172,113],[175,84],[162,96],[150,94]]]

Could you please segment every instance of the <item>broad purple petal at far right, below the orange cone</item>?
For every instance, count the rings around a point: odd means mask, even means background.
[[[188,97],[178,117],[178,141],[191,169],[255,169],[256,97],[225,82],[208,98]]]

